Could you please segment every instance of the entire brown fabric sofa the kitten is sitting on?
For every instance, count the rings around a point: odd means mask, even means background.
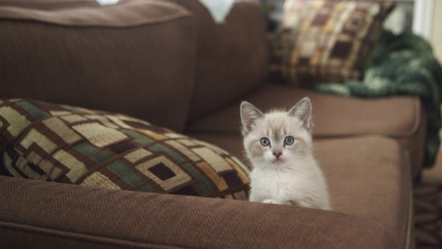
[[[240,101],[289,108],[309,96],[333,209],[0,176],[2,248],[414,248],[412,179],[426,121],[419,98],[264,83],[267,34],[254,1],[236,3],[220,25],[196,0],[3,1],[0,44],[1,100],[125,113],[244,163]]]

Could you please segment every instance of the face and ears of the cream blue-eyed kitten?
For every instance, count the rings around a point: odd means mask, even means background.
[[[248,102],[241,104],[244,148],[253,167],[289,167],[311,149],[311,104],[301,100],[290,111],[263,114]]]

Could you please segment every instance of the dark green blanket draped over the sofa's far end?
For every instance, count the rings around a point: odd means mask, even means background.
[[[317,84],[323,93],[376,98],[419,95],[428,113],[424,165],[433,165],[441,128],[442,67],[425,39],[412,33],[384,31],[365,69],[363,80]]]

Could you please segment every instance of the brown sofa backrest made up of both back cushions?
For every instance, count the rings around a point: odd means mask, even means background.
[[[10,18],[8,6],[28,11]],[[0,37],[0,57],[8,58],[0,59],[0,98],[118,111],[183,131],[240,100],[266,74],[267,33],[256,0],[236,1],[222,24],[198,0],[5,0],[0,8],[0,32],[8,34]],[[99,17],[84,14],[90,11],[110,20],[94,24]],[[67,20],[69,12],[77,19]],[[126,18],[133,23],[123,25]]]

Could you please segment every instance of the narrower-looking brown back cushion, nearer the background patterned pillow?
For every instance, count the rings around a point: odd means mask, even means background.
[[[222,24],[215,24],[198,0],[166,1],[193,12],[197,22],[198,57],[189,120],[238,102],[263,82],[267,33],[258,1],[235,1]]]

